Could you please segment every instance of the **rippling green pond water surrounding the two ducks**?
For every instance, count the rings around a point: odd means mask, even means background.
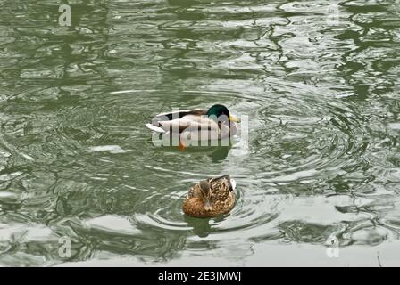
[[[399,1],[69,2],[61,27],[67,1],[0,1],[0,265],[398,252]],[[154,146],[155,114],[216,102],[248,116],[248,142]],[[224,174],[232,212],[184,216],[189,186]]]

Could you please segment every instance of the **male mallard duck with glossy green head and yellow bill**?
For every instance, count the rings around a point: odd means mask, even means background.
[[[209,110],[180,110],[156,115],[146,126],[161,134],[179,135],[179,150],[186,147],[185,142],[221,140],[236,134],[234,122],[239,119],[230,115],[227,107],[216,104]]]

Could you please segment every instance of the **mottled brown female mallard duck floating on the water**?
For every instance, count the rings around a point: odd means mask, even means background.
[[[200,181],[190,188],[183,201],[183,212],[196,217],[229,213],[235,204],[235,187],[229,175]]]

